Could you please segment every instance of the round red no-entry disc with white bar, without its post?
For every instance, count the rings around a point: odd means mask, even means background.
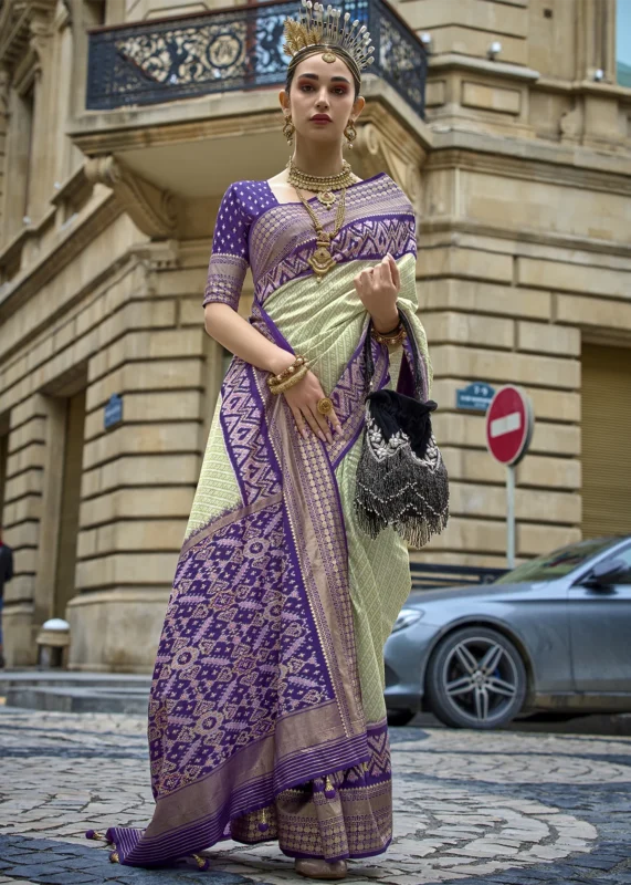
[[[512,384],[502,387],[486,413],[486,445],[499,464],[519,464],[533,438],[535,424],[529,396]]]

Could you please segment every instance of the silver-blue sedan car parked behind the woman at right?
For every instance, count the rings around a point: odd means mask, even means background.
[[[571,544],[493,584],[413,592],[385,652],[392,725],[421,709],[478,729],[535,710],[631,711],[631,538]]]

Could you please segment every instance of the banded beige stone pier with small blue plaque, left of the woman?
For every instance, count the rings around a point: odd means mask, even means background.
[[[88,365],[77,595],[67,610],[77,669],[150,670],[206,442],[208,246],[182,259],[154,243],[137,258],[118,283],[125,292],[112,296],[138,299],[138,314]],[[106,430],[112,394],[123,397],[123,421]]]

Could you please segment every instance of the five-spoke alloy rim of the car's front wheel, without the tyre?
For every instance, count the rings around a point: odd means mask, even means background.
[[[449,653],[442,673],[450,704],[471,721],[502,719],[518,689],[519,674],[513,657],[498,643],[473,636]]]

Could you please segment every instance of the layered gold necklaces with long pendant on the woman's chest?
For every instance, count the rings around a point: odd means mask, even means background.
[[[346,215],[346,188],[353,184],[353,171],[350,164],[343,160],[341,173],[339,175],[332,175],[326,177],[307,175],[306,173],[297,169],[293,162],[290,159],[290,184],[296,189],[296,194],[309,218],[313,222],[316,232],[316,250],[313,256],[307,259],[309,268],[315,273],[318,283],[323,278],[335,268],[336,262],[330,253],[330,241],[337,237],[344,225]],[[330,209],[337,200],[335,190],[341,190],[339,202],[337,204],[337,211],[335,214],[335,227],[332,231],[324,229],[322,221],[314,212],[305,197],[301,192],[303,190],[311,190],[312,194],[317,194],[318,200],[326,209]]]

